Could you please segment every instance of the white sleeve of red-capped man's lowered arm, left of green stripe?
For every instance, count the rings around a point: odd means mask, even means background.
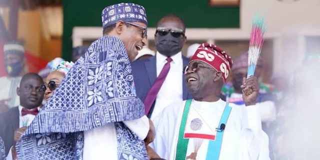
[[[154,151],[164,159],[170,159],[170,152],[176,143],[175,134],[179,127],[178,119],[184,108],[185,101],[175,102],[165,107],[163,111],[152,120],[155,127],[155,138],[149,144]]]

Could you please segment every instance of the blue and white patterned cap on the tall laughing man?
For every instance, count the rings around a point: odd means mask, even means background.
[[[134,3],[118,3],[102,10],[102,27],[115,24],[118,20],[138,21],[147,24],[145,9]]]

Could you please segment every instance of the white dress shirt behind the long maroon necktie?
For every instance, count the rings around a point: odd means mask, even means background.
[[[167,62],[167,57],[156,53],[156,76],[158,76]],[[164,107],[177,101],[182,101],[182,53],[178,52],[171,56],[172,61],[170,62],[170,70],[165,77],[165,80],[156,96],[155,105],[151,115],[151,119],[156,117]]]

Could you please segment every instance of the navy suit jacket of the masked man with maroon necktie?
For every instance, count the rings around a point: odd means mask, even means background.
[[[182,56],[182,61],[183,61],[183,66],[185,66],[188,64],[189,59]],[[136,94],[143,101],[156,78],[156,58],[155,56],[152,56],[146,59],[136,60],[131,63],[131,66],[133,71]],[[182,70],[177,74],[181,74],[182,76],[183,100],[192,98],[191,94],[188,93],[188,90],[186,88],[186,85],[184,82],[184,74],[182,74]],[[155,103],[155,100],[151,106],[148,117],[150,117],[152,114],[154,103]]]

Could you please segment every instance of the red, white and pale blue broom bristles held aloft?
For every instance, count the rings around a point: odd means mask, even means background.
[[[265,29],[266,27],[263,17],[256,15],[252,20],[252,29],[250,33],[247,77],[254,74],[255,66],[263,44],[263,34]]]

